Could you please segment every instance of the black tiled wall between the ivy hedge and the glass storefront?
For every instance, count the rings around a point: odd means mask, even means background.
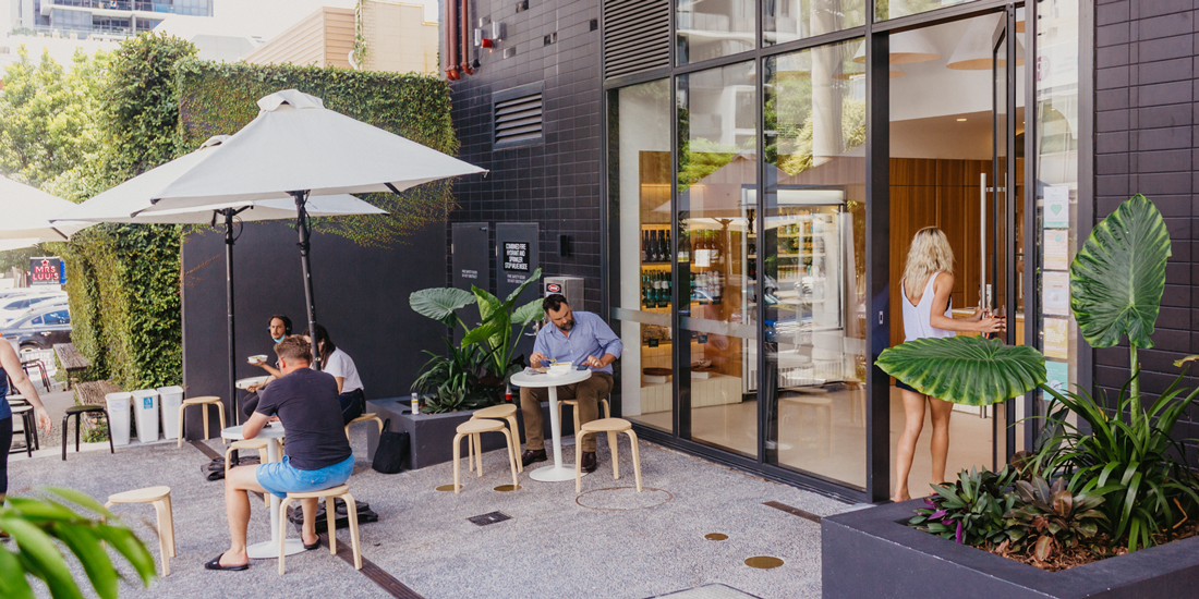
[[[591,29],[600,0],[529,0],[519,13],[514,0],[474,0],[471,18],[474,26],[482,19],[488,31],[490,23],[504,23],[506,38],[478,54],[475,74],[451,83],[458,156],[490,170],[456,184],[458,210],[451,220],[538,223],[542,271],[584,277],[583,308],[600,311],[601,63],[600,31]],[[546,44],[554,34],[556,41]],[[504,50],[512,48],[516,54],[505,59]],[[492,93],[538,81],[544,85],[544,143],[493,151]],[[571,255],[559,255],[559,235],[571,237]]]

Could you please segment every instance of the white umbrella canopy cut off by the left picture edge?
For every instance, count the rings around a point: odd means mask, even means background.
[[[89,223],[50,219],[76,205],[36,187],[0,177],[0,249],[29,247],[44,241],[66,241]]]

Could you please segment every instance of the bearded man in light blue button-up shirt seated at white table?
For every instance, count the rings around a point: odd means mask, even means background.
[[[600,416],[600,399],[607,398],[611,393],[611,363],[620,357],[625,346],[603,319],[590,311],[571,310],[566,297],[559,294],[547,296],[541,305],[553,326],[544,327],[537,333],[537,341],[534,343],[532,356],[529,361],[534,368],[546,365],[550,359],[589,365],[591,377],[579,383],[559,387],[558,399],[578,400],[579,405],[576,409],[579,411],[580,423],[595,420]],[[546,438],[542,435],[541,403],[548,400],[549,389],[520,388],[520,410],[524,413],[526,448],[520,460],[525,466],[547,459]],[[595,472],[595,435],[585,438],[579,450],[583,452],[583,470]]]

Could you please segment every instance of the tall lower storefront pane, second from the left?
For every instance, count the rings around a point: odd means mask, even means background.
[[[691,300],[676,343],[691,345],[691,363],[677,369],[691,438],[757,456],[753,77],[753,63],[741,62],[677,79],[677,210],[689,248],[679,283]]]

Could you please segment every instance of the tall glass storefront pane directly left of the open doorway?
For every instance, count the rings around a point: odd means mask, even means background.
[[[766,460],[866,486],[861,40],[766,61]],[[754,240],[755,241],[755,240]]]

